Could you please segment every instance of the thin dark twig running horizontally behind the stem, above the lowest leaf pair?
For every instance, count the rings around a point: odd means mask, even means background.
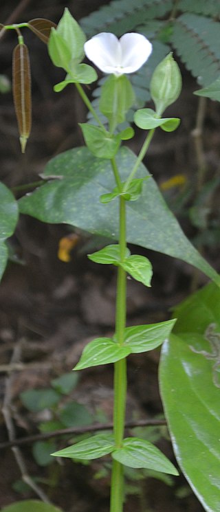
[[[128,421],[125,423],[126,428],[134,427],[150,427],[155,425],[166,425],[166,420],[163,419],[141,419],[139,421]],[[110,430],[113,428],[113,423],[96,423],[95,425],[89,425],[86,427],[69,427],[54,432],[45,432],[45,434],[35,434],[33,436],[23,437],[21,439],[14,438],[12,441],[5,441],[0,443],[0,449],[8,448],[12,446],[27,445],[34,443],[35,441],[43,441],[45,439],[51,439],[53,437],[64,436],[67,434],[85,434],[85,432],[96,432],[98,430]]]

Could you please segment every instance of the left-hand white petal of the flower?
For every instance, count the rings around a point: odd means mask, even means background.
[[[101,71],[113,73],[113,69],[121,66],[122,50],[118,38],[109,32],[101,32],[92,37],[84,45],[85,54]]]

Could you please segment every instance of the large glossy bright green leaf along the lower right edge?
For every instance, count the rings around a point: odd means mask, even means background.
[[[207,511],[219,508],[219,397],[215,359],[206,330],[220,331],[220,291],[214,283],[194,293],[175,310],[177,323],[164,343],[159,379],[173,448],[179,466]]]

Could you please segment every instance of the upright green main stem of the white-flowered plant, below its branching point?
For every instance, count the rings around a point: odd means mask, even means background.
[[[126,251],[126,202],[120,197],[120,260],[123,261]],[[115,337],[118,344],[124,343],[126,325],[126,272],[118,267],[117,296],[115,309]],[[126,408],[126,358],[114,364],[114,408],[113,432],[115,446],[120,448],[124,437],[124,421]],[[124,468],[117,460],[113,460],[111,474],[110,512],[122,512],[124,500]]]

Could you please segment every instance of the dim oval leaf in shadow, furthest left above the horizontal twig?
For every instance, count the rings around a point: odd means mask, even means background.
[[[20,394],[21,401],[25,407],[32,412],[39,412],[57,405],[61,395],[51,388],[41,390],[27,390]]]

